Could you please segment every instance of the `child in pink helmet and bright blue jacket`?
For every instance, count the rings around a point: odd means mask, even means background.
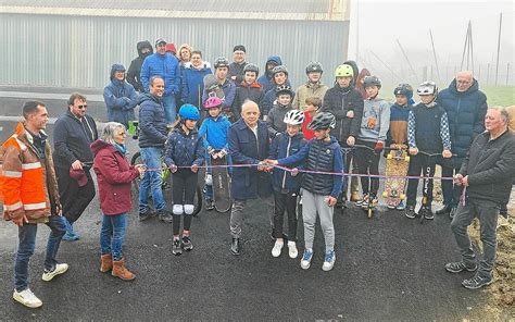
[[[217,97],[210,97],[205,103],[204,109],[208,110],[208,115],[202,122],[199,129],[199,136],[203,138],[205,154],[205,164],[211,165],[211,158],[223,158],[227,156],[227,132],[229,131],[230,122],[222,114],[222,107],[224,101]],[[227,163],[229,156],[227,156]],[[205,186],[204,199],[206,210],[214,209],[213,200],[213,179],[211,176],[211,169],[205,171]]]

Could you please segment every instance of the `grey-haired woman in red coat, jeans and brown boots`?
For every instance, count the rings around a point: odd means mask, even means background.
[[[125,268],[122,256],[127,212],[133,208],[130,182],[145,172],[141,164],[129,165],[125,154],[125,126],[109,122],[103,128],[101,139],[91,144],[95,154],[93,170],[100,195],[100,209],[103,213],[100,233],[101,272],[112,271],[113,276],[124,281],[136,277]]]

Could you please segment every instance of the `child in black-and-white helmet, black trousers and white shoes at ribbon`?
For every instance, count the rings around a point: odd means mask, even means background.
[[[286,131],[275,136],[268,159],[288,158],[300,151],[306,144],[301,132],[304,114],[299,110],[288,111],[284,117]],[[300,164],[296,164],[297,166]],[[288,214],[288,255],[297,258],[297,196],[299,196],[301,175],[275,168],[273,172],[275,214],[272,235],[276,238],[273,257],[279,257],[282,246],[282,222],[285,210]]]

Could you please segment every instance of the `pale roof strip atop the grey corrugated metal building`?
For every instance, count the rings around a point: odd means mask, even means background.
[[[256,20],[349,20],[350,0],[2,0],[0,13]]]

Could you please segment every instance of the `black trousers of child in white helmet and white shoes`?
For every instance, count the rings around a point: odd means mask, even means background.
[[[288,240],[297,242],[297,196],[296,193],[281,193],[274,188],[274,228],[272,235],[282,238],[285,211],[288,214]]]

